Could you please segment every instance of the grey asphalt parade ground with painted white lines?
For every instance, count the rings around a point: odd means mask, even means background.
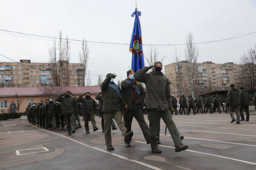
[[[245,115],[245,113],[244,113]],[[144,115],[148,124],[147,115]],[[80,117],[82,120],[82,117]],[[52,131],[28,124],[27,119],[0,121],[0,169],[8,170],[253,170],[256,169],[256,113],[250,122],[230,123],[228,113],[173,115],[188,149],[174,152],[174,143],[161,120],[159,149],[151,152],[133,119],[131,148],[126,148],[119,129],[112,130],[114,151],[106,149],[99,130],[83,128],[68,135],[67,129]]]

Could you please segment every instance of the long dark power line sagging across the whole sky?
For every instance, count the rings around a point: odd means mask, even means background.
[[[56,38],[56,37],[51,37],[51,36],[43,36],[43,35],[35,35],[35,34],[28,34],[28,33],[22,33],[22,32],[15,32],[15,31],[9,31],[9,30],[2,30],[0,29],[0,31],[5,31],[5,32],[12,32],[12,33],[18,33],[18,34],[23,34],[23,35],[30,35],[30,36],[38,36],[38,37],[44,37],[44,38],[54,38],[54,39],[61,39],[61,40],[70,40],[70,41],[77,41],[77,42],[83,42],[82,40],[74,40],[74,39],[68,39],[68,38]],[[200,42],[200,43],[190,43],[190,44],[206,44],[206,43],[214,43],[214,42],[220,42],[220,41],[226,41],[226,40],[231,40],[234,38],[239,38],[242,36],[246,36],[246,35],[250,35],[250,34],[254,34],[255,32],[251,32],[251,33],[247,33],[244,35],[240,35],[240,36],[235,36],[235,37],[231,37],[231,38],[225,38],[225,39],[221,39],[221,40],[215,40],[215,41],[207,41],[207,42]],[[96,42],[96,41],[85,41],[88,43],[99,43],[99,44],[115,44],[115,45],[130,45],[130,44],[124,44],[124,43],[108,43],[108,42]],[[143,44],[143,45],[154,45],[154,46],[175,46],[175,45],[189,45],[189,44]]]

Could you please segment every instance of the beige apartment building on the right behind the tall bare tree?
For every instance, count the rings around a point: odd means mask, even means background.
[[[165,66],[165,75],[173,83],[170,85],[173,96],[188,96],[191,94],[189,82],[191,82],[188,71],[188,61],[171,63]],[[230,84],[237,82],[239,67],[241,65],[233,62],[215,64],[211,61],[196,63],[196,73],[193,83],[195,84],[195,95],[209,93],[213,91],[223,91],[230,89]]]

